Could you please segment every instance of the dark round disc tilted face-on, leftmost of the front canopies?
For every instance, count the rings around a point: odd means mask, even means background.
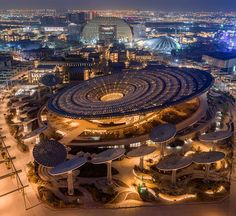
[[[35,161],[45,167],[55,167],[66,159],[66,148],[56,140],[43,141],[33,148]]]

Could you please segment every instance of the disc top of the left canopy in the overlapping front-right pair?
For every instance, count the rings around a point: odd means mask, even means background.
[[[183,169],[193,162],[193,158],[191,156],[177,156],[173,155],[170,157],[166,157],[163,160],[161,160],[156,168],[159,170],[164,170],[164,171],[171,171],[171,170],[178,170],[178,169]]]

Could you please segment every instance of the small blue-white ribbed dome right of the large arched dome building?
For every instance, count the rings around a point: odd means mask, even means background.
[[[138,41],[140,47],[159,53],[171,53],[172,50],[179,49],[180,44],[172,37],[161,36]]]

